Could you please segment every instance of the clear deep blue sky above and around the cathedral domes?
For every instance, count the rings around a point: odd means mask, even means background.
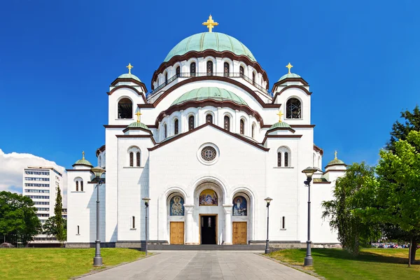
[[[110,83],[125,66],[151,90],[183,38],[218,27],[253,52],[270,89],[293,64],[312,94],[324,165],[377,162],[400,111],[420,103],[419,1],[3,1],[0,149],[66,168],[104,144]]]

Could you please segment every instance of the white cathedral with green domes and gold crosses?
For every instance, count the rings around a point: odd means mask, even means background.
[[[209,31],[184,38],[153,73],[151,91],[132,74],[108,92],[105,145],[97,165],[103,246],[153,244],[264,244],[304,246],[307,241],[306,167],[322,169],[314,144],[308,83],[281,76],[269,92],[267,73],[246,46]],[[286,70],[287,71],[287,70]],[[316,98],[315,94],[315,98]],[[68,172],[68,247],[96,239],[96,185],[92,165],[78,160]],[[341,160],[319,170],[311,183],[311,241],[337,244],[323,221],[321,202],[346,172]]]

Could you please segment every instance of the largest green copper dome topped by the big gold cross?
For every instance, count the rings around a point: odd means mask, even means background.
[[[175,45],[165,58],[165,62],[175,55],[185,55],[191,50],[197,52],[202,52],[203,50],[216,50],[218,52],[229,50],[235,55],[246,55],[253,62],[256,61],[251,51],[237,38],[218,32],[203,32],[189,36]]]

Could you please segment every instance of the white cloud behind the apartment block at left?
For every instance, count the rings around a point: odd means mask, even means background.
[[[66,181],[65,168],[55,162],[30,153],[4,153],[0,149],[0,191],[22,193],[23,169],[28,166],[54,167],[63,174],[63,180]]]

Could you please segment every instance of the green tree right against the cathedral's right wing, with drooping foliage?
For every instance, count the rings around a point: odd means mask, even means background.
[[[369,244],[378,237],[377,223],[363,221],[355,211],[374,204],[372,185],[377,184],[374,167],[364,162],[353,163],[346,174],[337,179],[333,190],[334,199],[323,202],[323,218],[328,218],[330,227],[337,230],[338,239],[344,250],[357,255],[360,246]]]

